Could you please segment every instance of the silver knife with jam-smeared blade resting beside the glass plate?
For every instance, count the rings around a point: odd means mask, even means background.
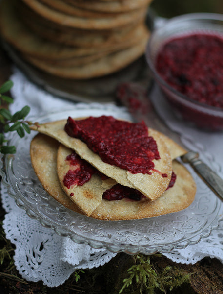
[[[149,100],[144,86],[140,83],[122,83],[117,88],[116,96],[128,108],[135,121],[143,120],[148,127],[162,132],[183,147],[185,154],[181,156],[182,161],[189,163],[206,185],[223,201],[223,179],[199,158],[198,152],[188,150],[182,143],[181,136],[162,121]]]

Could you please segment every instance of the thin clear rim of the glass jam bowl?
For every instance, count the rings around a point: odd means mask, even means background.
[[[163,28],[166,28],[167,25],[172,25],[172,24],[177,24],[178,22],[182,22],[182,21],[190,21],[190,20],[216,20],[216,21],[221,21],[223,22],[223,15],[222,14],[218,14],[218,13],[188,13],[188,14],[183,14],[183,15],[179,15],[179,16],[176,16],[176,17],[173,17],[173,18],[170,18],[166,21],[164,21],[162,23],[161,26],[155,28],[151,35],[150,35],[150,38],[146,44],[146,48],[145,48],[145,57],[146,57],[146,61],[149,65],[149,68],[150,70],[152,71],[155,79],[157,79],[158,83],[161,84],[162,86],[166,87],[167,90],[169,90],[170,92],[172,92],[175,96],[177,96],[177,98],[179,100],[182,100],[182,101],[186,101],[186,102],[189,102],[189,103],[192,103],[192,104],[195,104],[197,105],[198,107],[201,107],[203,109],[205,109],[206,111],[213,111],[213,112],[216,112],[216,114],[218,113],[219,114],[222,114],[223,113],[223,109],[219,108],[219,107],[216,107],[216,106],[212,106],[212,105],[208,105],[208,104],[205,104],[205,103],[202,103],[202,102],[199,102],[197,100],[193,100],[185,95],[183,95],[181,92],[177,91],[176,89],[172,88],[163,78],[162,76],[157,72],[155,66],[154,66],[154,63],[152,61],[152,58],[151,58],[151,43],[152,43],[152,40],[153,38],[159,33],[162,31]],[[200,30],[200,29],[199,29]],[[194,32],[196,31],[196,29],[194,30]],[[180,35],[179,33],[176,34],[177,35]],[[222,32],[222,35],[223,35],[223,32]],[[173,35],[174,36],[174,35]],[[168,40],[168,39],[166,39]],[[162,42],[162,44],[165,43],[164,40]]]

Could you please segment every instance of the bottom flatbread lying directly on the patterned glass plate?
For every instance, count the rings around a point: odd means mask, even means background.
[[[31,142],[31,159],[35,172],[40,177],[44,189],[65,207],[82,213],[62,190],[55,168],[58,143],[54,139],[38,134]],[[90,215],[101,220],[140,219],[176,212],[188,207],[196,193],[195,182],[190,173],[180,163],[174,161],[177,174],[174,187],[168,189],[155,201],[108,201],[102,199],[98,208]],[[121,201],[121,202],[120,202]]]

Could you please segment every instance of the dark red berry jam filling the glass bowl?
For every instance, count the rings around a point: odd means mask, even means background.
[[[185,96],[223,109],[223,37],[194,33],[173,38],[158,53],[156,69]]]

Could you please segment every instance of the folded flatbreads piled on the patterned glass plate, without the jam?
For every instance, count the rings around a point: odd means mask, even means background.
[[[69,209],[101,220],[129,220],[180,211],[194,200],[196,184],[193,177],[176,160],[185,150],[162,133],[148,128],[148,136],[155,139],[160,159],[153,160],[155,166],[151,174],[134,174],[102,161],[80,139],[67,135],[65,124],[66,120],[62,120],[32,126],[39,133],[31,142],[30,154],[43,188]],[[107,177],[101,178],[94,173],[82,186],[67,187],[64,177],[70,169],[77,168],[67,160],[72,152]],[[168,188],[173,171],[176,182]],[[103,193],[117,183],[140,191],[144,197],[139,201],[104,199]]]

